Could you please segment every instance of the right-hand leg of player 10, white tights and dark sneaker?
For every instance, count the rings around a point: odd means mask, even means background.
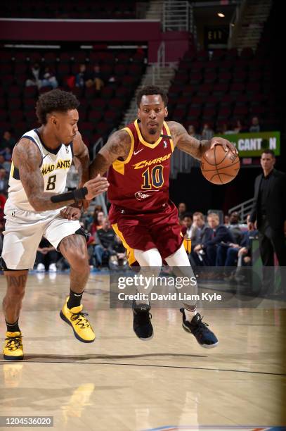
[[[182,245],[174,254],[165,258],[169,266],[174,268],[176,275],[190,278],[190,287],[188,294],[197,294],[197,280],[190,266],[188,255]],[[178,268],[179,267],[179,268]],[[214,332],[209,330],[207,323],[202,322],[202,316],[197,313],[196,301],[188,301],[183,303],[184,308],[180,311],[183,314],[182,326],[186,332],[193,334],[197,342],[206,348],[212,348],[219,344]]]

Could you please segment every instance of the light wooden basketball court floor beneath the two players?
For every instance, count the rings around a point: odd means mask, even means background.
[[[2,300],[4,276],[0,288]],[[183,331],[178,310],[153,309],[155,335],[141,342],[131,310],[109,308],[108,275],[91,274],[97,338],[84,344],[59,316],[68,292],[66,274],[29,275],[25,360],[0,358],[0,416],[53,416],[69,431],[286,429],[285,308],[204,310],[216,349]],[[3,344],[3,314],[0,330]]]

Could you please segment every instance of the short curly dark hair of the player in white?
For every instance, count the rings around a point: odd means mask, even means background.
[[[39,96],[36,104],[36,114],[40,124],[46,124],[46,115],[53,111],[67,112],[70,109],[77,109],[79,101],[74,94],[64,92],[60,89],[53,89]]]

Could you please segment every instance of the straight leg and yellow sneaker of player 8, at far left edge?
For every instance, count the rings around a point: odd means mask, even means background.
[[[28,270],[4,270],[7,291],[3,299],[3,311],[7,325],[4,359],[20,361],[24,358],[22,333],[18,326],[22,299],[25,295]]]

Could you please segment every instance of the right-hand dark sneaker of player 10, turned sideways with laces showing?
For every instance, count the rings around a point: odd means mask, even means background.
[[[218,339],[214,335],[214,332],[210,331],[207,326],[209,326],[207,323],[202,322],[202,316],[200,316],[200,313],[197,313],[193,319],[188,322],[186,320],[185,315],[185,309],[180,309],[181,313],[183,313],[183,329],[186,332],[190,332],[195,336],[195,339],[197,339],[197,342],[202,346],[206,347],[207,349],[211,349],[212,347],[215,347],[219,344]]]

